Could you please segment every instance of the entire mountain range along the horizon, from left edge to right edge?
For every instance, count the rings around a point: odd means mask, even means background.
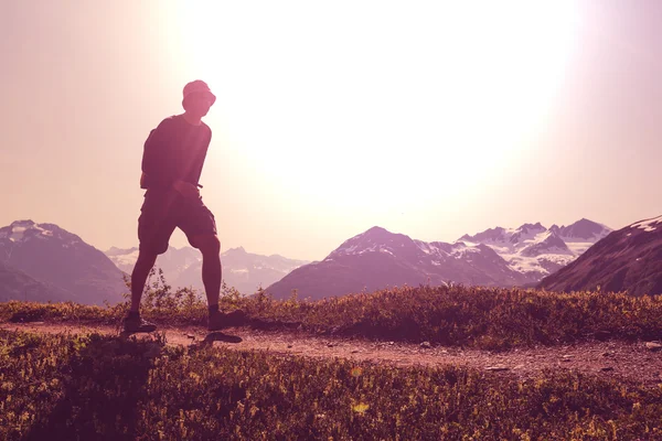
[[[463,283],[541,286],[548,290],[662,293],[662,217],[618,232],[588,219],[568,226],[523,224],[463,235],[455,243],[412,239],[381,227],[356,235],[322,261],[260,256],[242,247],[222,254],[225,282],[250,294],[320,299],[389,286]],[[17,220],[0,228],[0,301],[103,304],[122,300],[137,248],[106,254],[54,224]],[[173,288],[203,291],[200,251],[171,247],[159,256]]]

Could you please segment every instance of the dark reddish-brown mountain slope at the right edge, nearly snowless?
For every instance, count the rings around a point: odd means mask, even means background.
[[[598,287],[632,295],[662,294],[662,216],[612,232],[540,283],[540,288],[565,292]]]

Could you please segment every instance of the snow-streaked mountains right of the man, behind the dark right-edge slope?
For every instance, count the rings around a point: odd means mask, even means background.
[[[610,232],[583,218],[549,228],[540,223],[490,228],[449,244],[373,227],[344,241],[322,261],[293,270],[267,291],[287,298],[296,289],[300,297],[320,299],[405,283],[533,284]]]

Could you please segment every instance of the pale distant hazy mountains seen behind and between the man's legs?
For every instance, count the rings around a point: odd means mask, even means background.
[[[110,248],[106,255],[115,265],[130,273],[138,259],[138,249]],[[221,254],[223,280],[244,294],[254,293],[258,287],[267,287],[280,280],[306,260],[293,260],[279,255],[261,256],[246,252],[243,247],[231,248]],[[174,248],[159,255],[154,265],[163,270],[166,281],[172,287],[193,287],[203,291],[202,255],[192,247]]]

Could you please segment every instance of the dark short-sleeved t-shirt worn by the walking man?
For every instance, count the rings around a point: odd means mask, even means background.
[[[145,141],[141,189],[170,189],[177,180],[199,184],[212,130],[182,115],[166,118]]]

